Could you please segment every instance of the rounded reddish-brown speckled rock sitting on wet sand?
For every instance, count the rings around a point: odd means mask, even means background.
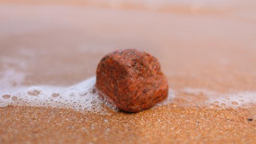
[[[96,87],[126,112],[152,108],[168,95],[158,60],[137,49],[116,50],[104,56],[98,64]]]

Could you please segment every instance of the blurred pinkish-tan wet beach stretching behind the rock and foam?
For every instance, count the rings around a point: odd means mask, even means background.
[[[170,87],[256,90],[255,0],[0,0],[0,86],[71,85],[137,48]]]

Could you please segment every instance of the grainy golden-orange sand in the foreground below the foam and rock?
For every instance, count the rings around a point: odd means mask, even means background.
[[[55,108],[1,108],[2,143],[247,143],[252,109],[168,105],[140,113],[81,114]]]

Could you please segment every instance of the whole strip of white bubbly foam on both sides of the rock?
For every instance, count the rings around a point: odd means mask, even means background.
[[[35,107],[53,107],[53,108],[72,108],[78,111],[91,111],[107,114],[108,110],[117,111],[110,99],[105,99],[103,94],[99,94],[94,87],[96,77],[89,78],[84,82],[70,87],[57,86],[32,86],[32,87],[12,87],[0,91],[0,107],[8,105],[15,106],[35,106]],[[185,88],[182,98],[190,101],[190,105],[201,106],[202,103],[207,106],[240,107],[250,103],[256,103],[256,92],[239,92],[232,94],[219,94],[205,89]],[[202,102],[197,97],[204,96],[206,100]],[[192,98],[193,97],[193,98]],[[161,107],[170,103],[175,104],[175,99],[181,96],[179,92],[169,89],[168,98],[158,103],[154,108]],[[202,97],[201,97],[202,98]],[[176,100],[177,102],[177,100]],[[107,120],[104,120],[105,122]]]

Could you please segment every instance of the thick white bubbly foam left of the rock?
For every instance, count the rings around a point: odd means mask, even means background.
[[[0,91],[0,107],[8,105],[53,108],[73,108],[81,111],[104,112],[103,107],[113,107],[94,90],[96,78],[92,77],[71,87],[33,86]],[[81,95],[82,94],[82,95]],[[11,95],[6,98],[4,95]]]

